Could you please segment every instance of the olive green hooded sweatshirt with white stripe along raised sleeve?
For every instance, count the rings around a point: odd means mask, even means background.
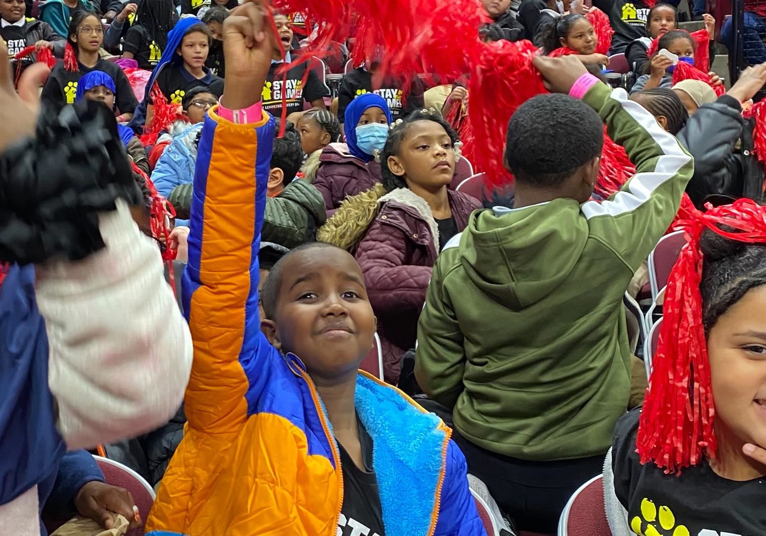
[[[415,374],[466,439],[525,460],[604,454],[630,395],[623,294],[663,236],[692,157],[624,90],[584,102],[637,174],[601,204],[476,211],[434,265]]]

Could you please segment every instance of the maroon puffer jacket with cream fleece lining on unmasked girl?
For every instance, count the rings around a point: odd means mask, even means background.
[[[457,191],[447,194],[457,230],[462,231],[481,203]],[[423,198],[398,188],[379,202],[380,211],[358,244],[355,257],[378,317],[385,381],[396,385],[399,360],[415,346],[417,319],[440,247],[436,221]]]

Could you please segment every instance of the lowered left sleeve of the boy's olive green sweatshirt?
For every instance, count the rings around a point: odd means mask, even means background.
[[[454,407],[463,392],[466,355],[463,332],[444,288],[445,266],[457,249],[444,251],[434,263],[426,301],[417,322],[415,378],[424,393],[445,407]]]

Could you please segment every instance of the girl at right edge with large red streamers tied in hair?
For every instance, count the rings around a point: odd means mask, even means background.
[[[766,534],[766,207],[680,214],[689,243],[643,410],[617,421],[607,518],[615,536]]]

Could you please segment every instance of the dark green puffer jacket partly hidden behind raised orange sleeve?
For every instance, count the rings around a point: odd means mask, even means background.
[[[179,218],[188,219],[191,187],[191,183],[178,185],[168,196]],[[261,241],[278,243],[292,249],[314,240],[316,230],[326,219],[322,194],[309,182],[296,179],[276,197],[267,198]]]

